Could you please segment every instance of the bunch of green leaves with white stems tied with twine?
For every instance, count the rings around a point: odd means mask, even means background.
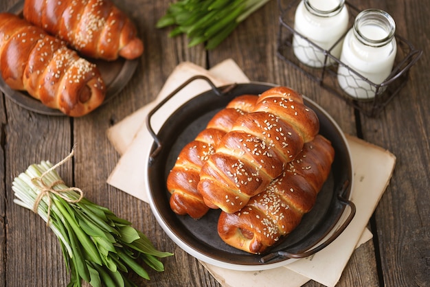
[[[144,233],[112,211],[92,203],[82,190],[68,187],[52,165],[30,165],[12,183],[14,203],[35,211],[52,229],[61,244],[70,271],[67,286],[137,286],[126,274],[134,271],[150,279],[144,266],[164,271],[159,258],[173,255],[155,249]]]

